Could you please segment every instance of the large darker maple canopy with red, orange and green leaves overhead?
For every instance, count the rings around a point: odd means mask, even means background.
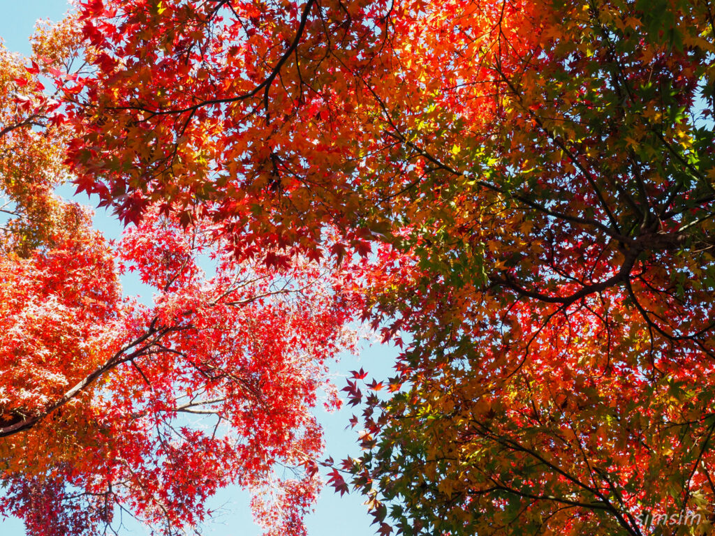
[[[367,256],[365,318],[410,334],[387,397],[347,387],[365,453],[342,469],[381,532],[702,534],[714,17],[92,0],[90,68],[51,75],[79,189],[125,220],[204,222],[254,269]]]

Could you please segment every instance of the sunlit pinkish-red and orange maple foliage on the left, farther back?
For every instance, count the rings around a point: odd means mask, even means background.
[[[41,26],[30,59],[0,50],[0,512],[32,534],[107,532],[128,512],[173,535],[235,483],[266,534],[305,534],[312,409],[321,392],[339,405],[327,362],[355,344],[350,272],[239,261],[212,222],[158,207],[107,242],[54,194],[67,131],[39,76],[68,69],[77,37],[69,19]],[[122,296],[127,271],[152,304]]]

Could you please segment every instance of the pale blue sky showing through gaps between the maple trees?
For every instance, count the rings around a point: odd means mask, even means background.
[[[0,0],[2,16],[0,17],[0,37],[5,46],[11,51],[29,53],[28,38],[31,35],[35,22],[38,19],[57,21],[68,9],[65,0]],[[63,187],[61,195],[70,197],[73,192],[71,187]],[[84,204],[92,204],[86,197],[80,199]],[[117,237],[121,232],[118,222],[103,210],[97,212],[95,225],[107,237]],[[127,294],[140,294],[141,287],[135,280],[122,281]],[[335,382],[338,387],[343,387],[345,375],[350,369],[364,367],[371,375],[378,378],[387,377],[390,367],[394,362],[395,350],[389,347],[374,345],[366,347],[360,357],[345,356],[342,362],[332,367]],[[347,420],[352,415],[350,409],[327,414],[317,410],[317,416],[325,427],[327,454],[340,460],[347,455],[356,456],[359,449],[355,445],[355,432],[345,430]],[[370,527],[371,518],[366,507],[362,504],[361,497],[345,495],[340,498],[332,490],[322,492],[316,507],[315,514],[307,519],[308,534],[310,536],[369,536],[375,533],[375,528]],[[207,536],[258,536],[260,529],[253,524],[248,508],[248,495],[240,489],[228,488],[223,490],[212,501],[212,505],[223,505],[222,515],[214,522],[209,522],[203,527]],[[3,536],[24,536],[24,526],[19,520],[0,520],[0,534]],[[127,522],[126,527],[120,531],[122,536],[145,535],[147,530],[136,523]],[[36,535],[31,535],[36,536]]]

